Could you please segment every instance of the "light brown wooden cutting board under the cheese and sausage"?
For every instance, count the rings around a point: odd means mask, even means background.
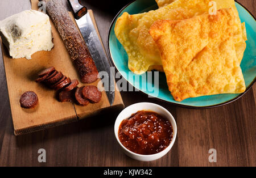
[[[31,5],[32,9],[38,9],[38,1],[32,0]],[[93,12],[91,10],[88,12],[97,29]],[[73,15],[71,13],[69,14],[74,20]],[[68,122],[78,121],[82,118],[90,117],[102,111],[106,111],[107,109],[116,110],[124,107],[117,87],[115,90],[114,104],[111,107],[105,91],[102,92],[102,99],[100,103],[80,107],[79,105],[69,102],[60,103],[57,100],[56,91],[45,87],[43,84],[34,82],[37,78],[37,73],[40,70],[49,66],[54,66],[56,70],[61,71],[67,77],[70,77],[71,79],[79,79],[80,87],[86,85],[81,83],[75,66],[73,66],[65,45],[52,21],[51,26],[53,43],[55,45],[54,48],[49,52],[42,51],[32,54],[31,60],[27,60],[26,58],[11,58],[6,46],[4,46],[1,41],[15,135],[35,132],[37,130],[66,124]],[[98,86],[99,82],[100,86],[102,86],[100,79],[92,84]],[[20,95],[26,91],[34,91],[38,95],[39,104],[36,108],[24,109],[20,107]]]

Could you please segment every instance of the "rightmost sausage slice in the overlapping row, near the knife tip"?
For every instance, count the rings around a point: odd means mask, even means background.
[[[101,92],[96,86],[85,86],[82,89],[82,97],[92,103],[98,103],[101,100]]]

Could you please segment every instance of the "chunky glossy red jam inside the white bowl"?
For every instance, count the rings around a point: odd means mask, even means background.
[[[138,111],[123,120],[118,137],[126,149],[137,154],[151,155],[163,151],[171,143],[171,122],[158,113]]]

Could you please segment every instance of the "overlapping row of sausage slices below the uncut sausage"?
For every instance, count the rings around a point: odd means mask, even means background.
[[[79,81],[71,80],[55,67],[48,67],[38,74],[36,82],[42,82],[49,88],[59,91],[59,101],[72,102],[74,98],[79,105],[85,106],[89,103],[98,103],[101,100],[101,92],[95,86],[77,87]]]

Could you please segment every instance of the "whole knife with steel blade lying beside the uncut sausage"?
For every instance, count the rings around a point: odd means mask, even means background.
[[[92,19],[90,18],[89,12],[85,6],[81,5],[79,0],[68,0],[68,4],[71,7],[73,15],[75,16],[76,24],[80,29],[82,37],[86,45],[88,46],[89,52],[96,64],[99,72],[105,71],[108,73],[108,84],[104,83],[104,89],[108,96],[110,105],[113,104],[115,98],[115,82],[114,75],[110,68],[108,57],[106,56],[105,50],[98,37],[98,33],[94,27]]]

